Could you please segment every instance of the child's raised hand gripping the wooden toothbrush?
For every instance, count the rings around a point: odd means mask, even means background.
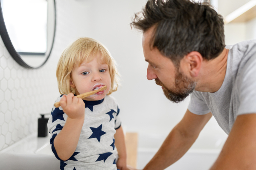
[[[81,98],[77,98],[70,93],[63,95],[60,100],[64,113],[71,119],[80,119],[84,117],[85,105]]]

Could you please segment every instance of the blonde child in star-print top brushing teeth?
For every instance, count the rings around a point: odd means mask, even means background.
[[[110,96],[117,90],[118,72],[108,50],[92,38],[80,38],[64,50],[56,76],[61,96],[55,102],[61,107],[52,108],[48,130],[60,169],[127,170],[119,107]],[[104,85],[105,91],[76,97]]]

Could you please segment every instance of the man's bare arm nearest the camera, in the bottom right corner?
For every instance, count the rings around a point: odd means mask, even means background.
[[[256,169],[256,114],[239,115],[210,170]]]

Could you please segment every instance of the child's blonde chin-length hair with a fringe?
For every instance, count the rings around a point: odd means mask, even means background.
[[[75,94],[75,90],[70,87],[71,72],[74,67],[79,67],[85,60],[90,62],[94,57],[99,57],[100,62],[107,64],[111,77],[111,89],[107,95],[116,91],[119,86],[119,73],[115,66],[115,61],[110,52],[100,42],[92,38],[79,38],[70,44],[61,54],[58,61],[56,77],[58,89],[61,94]]]

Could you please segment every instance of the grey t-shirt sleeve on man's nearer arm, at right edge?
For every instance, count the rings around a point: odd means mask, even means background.
[[[247,61],[241,75],[241,84],[238,89],[240,105],[236,116],[256,113],[256,54]]]

